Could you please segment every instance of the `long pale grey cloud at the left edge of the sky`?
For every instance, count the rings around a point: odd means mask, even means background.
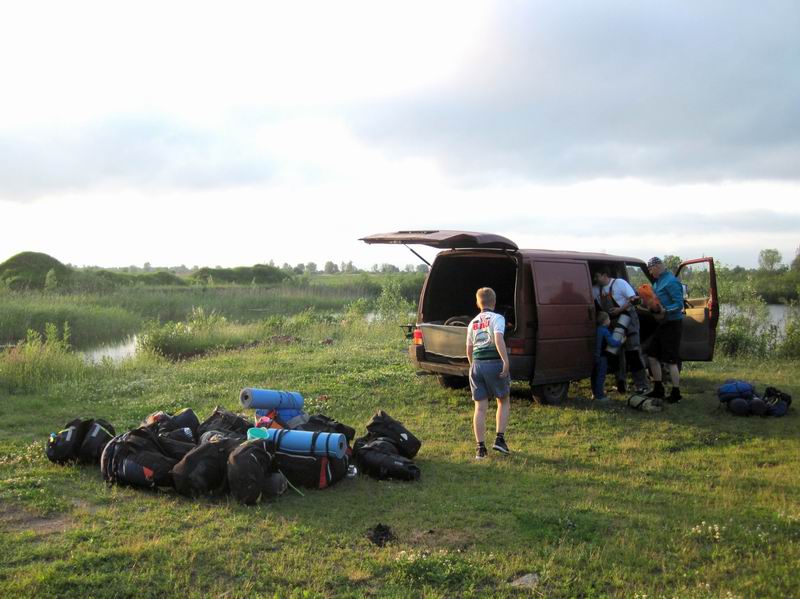
[[[101,185],[215,188],[270,180],[267,157],[226,136],[160,118],[0,136],[0,199]]]

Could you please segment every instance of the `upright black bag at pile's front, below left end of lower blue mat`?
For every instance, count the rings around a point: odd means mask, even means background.
[[[275,470],[264,439],[247,441],[228,456],[228,488],[240,503],[252,505],[277,497],[286,486],[286,477]]]

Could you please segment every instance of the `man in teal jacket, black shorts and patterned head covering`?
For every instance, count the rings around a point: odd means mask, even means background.
[[[647,396],[665,397],[664,384],[661,382],[661,363],[664,362],[669,366],[669,376],[672,381],[672,391],[667,401],[676,403],[682,399],[678,362],[680,362],[683,332],[683,285],[657,256],[647,262],[647,270],[655,279],[653,291],[661,302],[661,307],[656,311],[656,318],[660,318],[661,322],[651,337],[647,351],[650,372],[653,374],[653,390]]]

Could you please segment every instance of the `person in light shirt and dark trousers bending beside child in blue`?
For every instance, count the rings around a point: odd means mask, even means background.
[[[617,376],[617,390],[620,393],[625,392],[626,370],[630,370],[636,392],[645,393],[647,391],[647,373],[641,355],[639,314],[634,305],[637,299],[636,291],[625,279],[612,279],[608,268],[605,267],[595,273],[595,281],[600,289],[597,301],[601,309],[608,312],[612,323],[616,324],[620,314],[627,314],[631,319],[625,331],[625,353],[620,356],[622,372]]]

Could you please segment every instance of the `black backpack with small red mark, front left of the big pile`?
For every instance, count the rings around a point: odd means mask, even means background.
[[[149,489],[171,487],[170,470],[176,463],[162,452],[158,436],[145,427],[111,439],[100,457],[100,472],[109,483]]]

